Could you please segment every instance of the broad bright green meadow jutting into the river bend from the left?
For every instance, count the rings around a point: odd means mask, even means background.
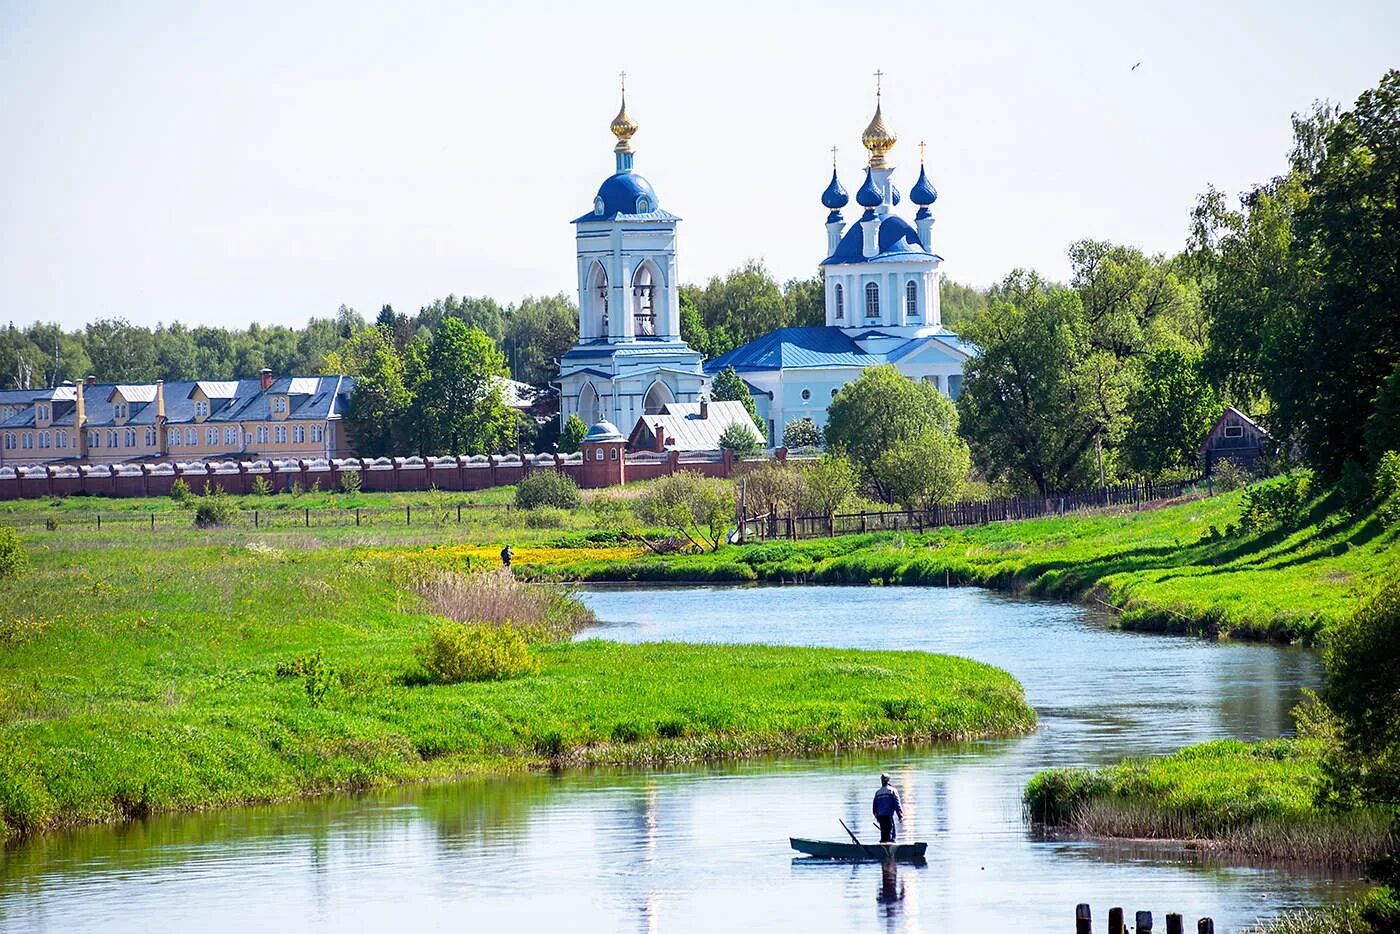
[[[414,650],[441,618],[406,583],[417,552],[42,535],[0,601],[0,837],[477,772],[1035,728],[1008,674],[923,653],[556,643],[531,647],[535,674],[423,683]]]

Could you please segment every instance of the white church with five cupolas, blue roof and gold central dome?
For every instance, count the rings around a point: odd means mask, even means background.
[[[875,116],[861,137],[869,160],[855,192],[860,217],[847,227],[850,203],[832,167],[822,193],[826,216],[826,326],[780,328],[706,363],[708,377],[734,367],[767,421],[770,444],[804,416],[826,424],[826,407],[865,367],[893,364],[956,399],[963,363],[974,349],[942,326],[938,283],[942,256],[932,252],[938,192],[920,160],[909,200],[914,223],[895,213],[902,197],[888,154],[896,137],[885,126],[876,92]]]

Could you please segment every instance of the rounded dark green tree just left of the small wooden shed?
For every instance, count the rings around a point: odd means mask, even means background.
[[[1221,399],[1205,379],[1201,356],[1173,347],[1156,350],[1128,396],[1127,463],[1149,476],[1193,466],[1219,413]]]

